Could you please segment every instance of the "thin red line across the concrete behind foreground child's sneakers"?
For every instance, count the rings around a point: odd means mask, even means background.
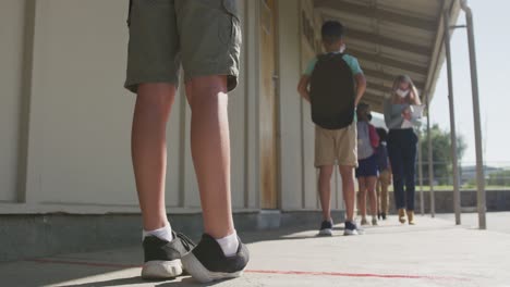
[[[86,262],[53,259],[28,259],[28,262],[46,264],[70,264],[92,267],[112,267],[112,269],[135,269],[142,267],[137,264],[118,264],[107,262]],[[467,278],[428,276],[428,275],[402,275],[402,274],[374,274],[374,273],[343,273],[343,272],[306,272],[306,271],[276,271],[276,270],[246,270],[245,273],[254,274],[274,274],[274,275],[303,275],[303,276],[337,276],[337,277],[359,277],[359,278],[387,278],[387,279],[429,279],[429,280],[459,280],[469,282]]]

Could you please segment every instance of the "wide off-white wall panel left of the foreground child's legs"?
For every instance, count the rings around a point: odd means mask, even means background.
[[[31,201],[136,203],[124,2],[36,2]]]

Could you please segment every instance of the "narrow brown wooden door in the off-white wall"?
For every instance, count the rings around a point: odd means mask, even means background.
[[[260,51],[260,204],[278,209],[278,114],[277,114],[277,48],[276,0],[259,0]]]

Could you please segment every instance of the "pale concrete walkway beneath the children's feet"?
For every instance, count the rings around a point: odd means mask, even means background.
[[[510,224],[510,213],[488,214]],[[394,216],[357,237],[316,230],[242,235],[252,261],[244,276],[207,286],[510,286],[510,234],[453,226],[451,220]],[[0,264],[0,286],[203,286],[189,276],[139,279],[139,247]]]

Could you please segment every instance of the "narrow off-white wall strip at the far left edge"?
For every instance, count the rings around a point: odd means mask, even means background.
[[[25,1],[0,2],[0,201],[16,200]]]

